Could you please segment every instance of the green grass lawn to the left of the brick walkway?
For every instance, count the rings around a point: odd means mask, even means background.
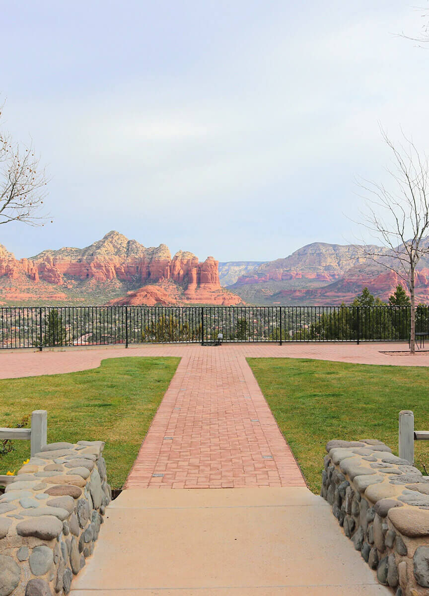
[[[0,380],[0,427],[48,411],[48,442],[104,440],[108,482],[121,488],[180,358],[110,358],[80,373]],[[0,474],[30,457],[29,441],[0,458]]]

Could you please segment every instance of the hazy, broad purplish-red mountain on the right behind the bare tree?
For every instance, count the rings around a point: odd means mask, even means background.
[[[387,249],[373,248],[388,254]],[[362,247],[313,243],[284,259],[263,263],[229,289],[248,303],[312,306],[351,302],[364,286],[387,300],[399,283],[406,285],[390,269],[363,259]],[[418,264],[416,297],[429,302],[428,256]]]

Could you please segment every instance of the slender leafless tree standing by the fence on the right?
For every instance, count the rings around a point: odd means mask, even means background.
[[[422,255],[429,254],[429,164],[414,142],[403,135],[396,147],[381,131],[393,154],[393,167],[387,169],[393,190],[383,183],[364,180],[366,209],[360,224],[377,238],[384,249],[365,245],[364,256],[396,272],[409,288],[411,298],[410,351],[415,352],[415,270]]]

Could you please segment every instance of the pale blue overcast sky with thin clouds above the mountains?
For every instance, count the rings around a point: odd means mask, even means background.
[[[2,0],[2,128],[33,139],[54,223],[0,243],[117,229],[225,261],[353,241],[355,177],[387,178],[378,122],[429,149],[429,52],[396,35],[421,25],[399,0]]]

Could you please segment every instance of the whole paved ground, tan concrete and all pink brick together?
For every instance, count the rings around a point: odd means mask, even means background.
[[[245,358],[429,364],[423,352],[414,358],[382,353],[392,349],[403,346],[1,352],[3,378],[85,370],[104,358],[181,357],[127,490],[108,505],[94,555],[73,580],[70,596],[389,596],[338,530],[329,504],[306,488]]]

